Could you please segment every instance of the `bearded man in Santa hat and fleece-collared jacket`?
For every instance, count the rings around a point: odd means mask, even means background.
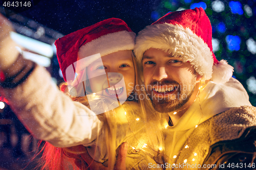
[[[256,109],[212,52],[202,8],[166,14],[138,34],[134,51],[154,108],[168,117],[166,169],[254,165]]]

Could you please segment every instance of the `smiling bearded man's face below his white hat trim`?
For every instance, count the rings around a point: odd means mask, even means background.
[[[146,91],[157,111],[175,111],[197,93],[197,72],[189,62],[150,48],[143,55],[142,65]]]

